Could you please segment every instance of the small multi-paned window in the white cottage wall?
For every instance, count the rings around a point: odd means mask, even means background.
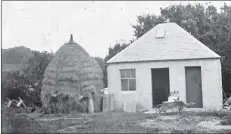
[[[121,69],[121,90],[135,91],[136,90],[136,72],[135,69]]]

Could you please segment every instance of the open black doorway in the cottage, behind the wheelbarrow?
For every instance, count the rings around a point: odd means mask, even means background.
[[[169,96],[169,69],[152,69],[152,105],[161,104]]]

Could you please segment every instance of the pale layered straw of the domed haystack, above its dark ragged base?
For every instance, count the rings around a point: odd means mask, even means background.
[[[103,73],[98,63],[77,43],[73,36],[55,53],[44,74],[41,98],[43,106],[49,107],[48,95],[62,93],[74,98],[82,95],[86,86],[96,88],[96,111],[99,111],[99,92],[103,86]]]

